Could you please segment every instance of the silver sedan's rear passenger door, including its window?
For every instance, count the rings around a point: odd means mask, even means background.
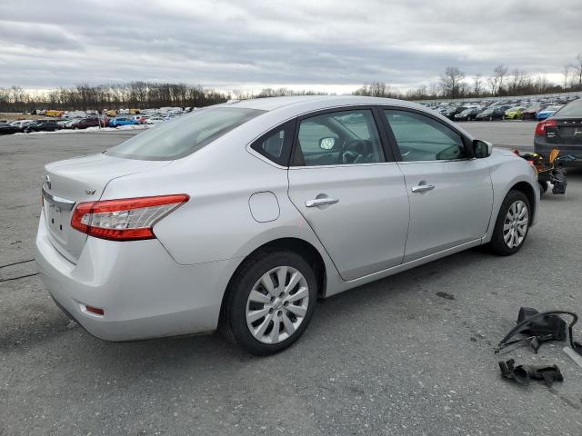
[[[383,147],[376,119],[372,108],[360,107],[296,124],[289,198],[345,280],[395,266],[404,256],[404,176]]]

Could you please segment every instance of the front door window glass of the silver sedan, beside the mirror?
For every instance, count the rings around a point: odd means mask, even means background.
[[[467,157],[463,138],[445,124],[413,112],[385,110],[384,114],[404,162]]]

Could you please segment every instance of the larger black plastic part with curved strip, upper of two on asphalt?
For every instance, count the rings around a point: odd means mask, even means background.
[[[568,324],[558,315],[569,315],[572,317],[572,322]],[[572,337],[572,327],[577,321],[578,315],[575,312],[537,312],[536,309],[522,307],[517,315],[517,325],[499,342],[495,352],[501,352],[511,345],[523,343],[527,343],[534,352],[537,352],[543,342],[566,341],[566,338],[569,338],[572,350],[582,356],[582,345],[574,342]],[[517,334],[525,337],[509,341]]]

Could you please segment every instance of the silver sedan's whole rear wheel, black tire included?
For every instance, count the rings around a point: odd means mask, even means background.
[[[287,250],[258,253],[231,280],[221,330],[246,352],[281,352],[305,332],[316,299],[316,275],[303,257]]]

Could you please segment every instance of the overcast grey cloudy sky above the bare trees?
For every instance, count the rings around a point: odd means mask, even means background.
[[[582,53],[582,1],[0,2],[0,86],[136,80],[350,92],[497,64],[553,74]]]

